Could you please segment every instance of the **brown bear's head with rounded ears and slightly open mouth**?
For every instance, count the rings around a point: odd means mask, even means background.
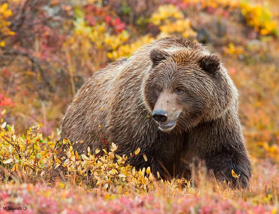
[[[216,54],[197,48],[154,48],[144,102],[162,131],[189,130],[221,117],[237,91]]]

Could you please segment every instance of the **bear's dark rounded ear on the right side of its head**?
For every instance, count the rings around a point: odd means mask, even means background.
[[[202,70],[209,73],[215,73],[219,69],[220,63],[220,57],[216,53],[206,55],[199,60]]]

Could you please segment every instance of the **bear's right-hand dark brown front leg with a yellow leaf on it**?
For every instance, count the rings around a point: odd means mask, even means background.
[[[248,186],[252,169],[236,110],[192,129],[189,144],[219,181],[230,181],[237,188]]]

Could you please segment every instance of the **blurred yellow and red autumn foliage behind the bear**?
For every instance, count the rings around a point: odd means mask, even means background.
[[[279,3],[242,0],[0,0],[0,111],[17,134],[51,134],[96,70],[157,37],[219,53],[240,93],[251,156],[278,161]],[[115,142],[117,143],[117,142]]]

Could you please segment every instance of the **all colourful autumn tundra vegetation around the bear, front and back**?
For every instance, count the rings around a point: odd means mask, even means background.
[[[0,0],[0,207],[278,213],[278,7],[274,0]],[[119,156],[117,142],[104,140],[105,149],[81,154],[75,142],[56,140],[66,106],[94,71],[169,33],[219,53],[239,90],[253,166],[246,190],[208,180],[203,167],[199,181],[136,170],[128,158],[148,159],[140,148]],[[53,180],[49,169],[58,165],[65,173]]]

